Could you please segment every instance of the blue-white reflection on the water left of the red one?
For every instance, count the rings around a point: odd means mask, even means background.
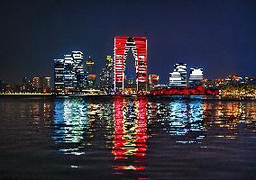
[[[73,144],[72,148],[60,148],[65,154],[84,154],[84,133],[87,127],[87,103],[82,99],[65,98],[54,104],[54,136],[56,143]]]

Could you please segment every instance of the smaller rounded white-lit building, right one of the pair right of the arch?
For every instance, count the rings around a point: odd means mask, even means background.
[[[190,68],[189,86],[194,87],[197,85],[202,85],[202,80],[203,80],[203,68],[199,68],[199,67]]]

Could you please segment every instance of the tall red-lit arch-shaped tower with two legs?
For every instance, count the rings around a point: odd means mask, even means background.
[[[147,39],[146,37],[114,37],[114,91],[123,91],[125,60],[133,50],[136,68],[137,91],[147,90]]]

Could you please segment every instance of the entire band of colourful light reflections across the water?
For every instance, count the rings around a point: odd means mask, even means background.
[[[255,110],[254,105],[250,108]],[[255,127],[255,111],[245,111],[241,102],[207,103],[200,98],[149,101],[116,96],[108,102],[65,98],[54,103],[53,140],[64,147],[59,148],[63,154],[86,156],[85,148],[94,143],[98,130],[105,133],[105,148],[114,156],[114,173],[144,171],[147,141],[154,137],[154,129],[178,144],[201,144],[213,127],[215,138],[235,139],[239,124]]]

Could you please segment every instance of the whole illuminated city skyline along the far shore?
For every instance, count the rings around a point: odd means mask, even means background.
[[[211,95],[216,98],[256,99],[256,80],[253,77],[227,75],[223,79],[206,79],[202,67],[190,67],[179,62],[169,73],[169,83],[160,83],[160,76],[148,74],[148,41],[141,36],[115,36],[114,58],[106,55],[105,66],[99,75],[97,63],[90,56],[73,50],[63,58],[54,59],[54,87],[49,76],[23,77],[21,86],[0,82],[2,95]],[[129,49],[135,58],[136,80],[125,76]],[[188,75],[188,76],[187,76]],[[136,86],[136,88],[135,88]]]

